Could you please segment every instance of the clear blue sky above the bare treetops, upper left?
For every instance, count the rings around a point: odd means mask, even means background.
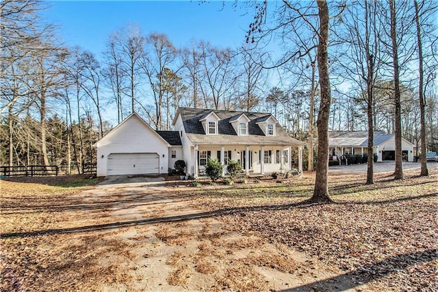
[[[49,1],[42,17],[60,27],[66,45],[99,54],[111,32],[138,23],[142,34],[167,34],[176,47],[191,38],[235,48],[245,40],[253,11],[234,1]],[[222,4],[224,7],[222,7]]]

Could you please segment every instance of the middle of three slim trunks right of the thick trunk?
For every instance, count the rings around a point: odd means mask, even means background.
[[[394,64],[394,105],[396,108],[396,117],[394,118],[394,133],[396,135],[396,169],[394,171],[394,180],[403,179],[402,166],[402,119],[400,104],[400,76],[398,65],[398,48],[397,48],[397,31],[396,31],[396,3],[389,0],[389,13],[391,14],[391,41]]]

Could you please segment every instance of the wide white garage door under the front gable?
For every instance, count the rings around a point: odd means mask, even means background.
[[[108,155],[107,175],[158,174],[156,153],[112,153]]]

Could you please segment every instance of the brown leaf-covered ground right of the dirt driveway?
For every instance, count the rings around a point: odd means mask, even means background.
[[[405,180],[376,175],[330,177],[333,204],[303,204],[314,178],[274,186],[201,193],[199,207],[222,209],[222,220],[285,243],[377,290],[438,291],[438,174]],[[231,207],[231,208],[230,208]]]

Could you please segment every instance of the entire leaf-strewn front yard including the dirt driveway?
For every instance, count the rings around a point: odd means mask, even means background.
[[[415,175],[369,186],[333,174],[333,204],[305,204],[311,174],[170,183],[159,200],[142,186],[92,197],[98,180],[84,177],[2,180],[0,290],[280,290],[281,278],[304,291],[437,291],[438,171]]]

